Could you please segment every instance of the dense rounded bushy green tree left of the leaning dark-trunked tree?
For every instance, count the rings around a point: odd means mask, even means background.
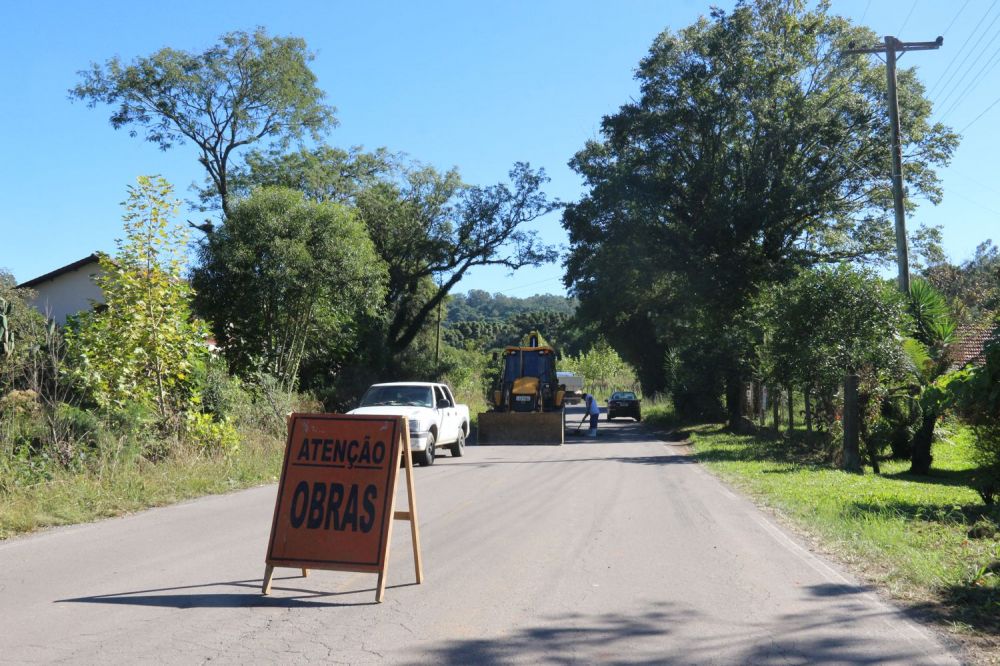
[[[304,373],[328,381],[351,355],[359,321],[379,315],[386,277],[351,209],[265,187],[199,246],[192,281],[234,372],[291,388]]]

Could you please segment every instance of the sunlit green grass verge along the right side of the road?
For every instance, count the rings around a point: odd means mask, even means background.
[[[841,472],[799,438],[683,432],[709,469],[953,632],[977,660],[1000,663],[1000,507],[983,506],[968,485],[967,432],[935,444],[930,477],[907,474],[906,461],[886,462],[881,475]]]

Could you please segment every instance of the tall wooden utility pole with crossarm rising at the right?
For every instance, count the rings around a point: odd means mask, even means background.
[[[899,145],[899,102],[896,99],[896,54],[907,51],[929,51],[938,49],[944,43],[943,37],[933,42],[901,42],[886,35],[885,44],[867,48],[855,48],[851,42],[843,53],[884,53],[885,78],[889,88],[889,124],[892,130],[892,199],[896,209],[896,266],[899,269],[897,282],[899,290],[910,293],[910,260],[906,248],[906,211],[903,208],[903,152]]]

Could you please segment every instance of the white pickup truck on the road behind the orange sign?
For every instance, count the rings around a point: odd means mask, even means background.
[[[410,449],[420,465],[434,464],[438,449],[460,458],[469,436],[469,408],[455,402],[447,384],[393,382],[373,384],[361,405],[348,414],[405,416],[410,423]]]

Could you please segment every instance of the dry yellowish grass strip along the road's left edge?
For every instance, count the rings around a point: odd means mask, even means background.
[[[259,434],[230,456],[181,449],[156,463],[115,459],[85,472],[62,470],[0,493],[0,539],[277,481],[283,453],[282,439]]]

